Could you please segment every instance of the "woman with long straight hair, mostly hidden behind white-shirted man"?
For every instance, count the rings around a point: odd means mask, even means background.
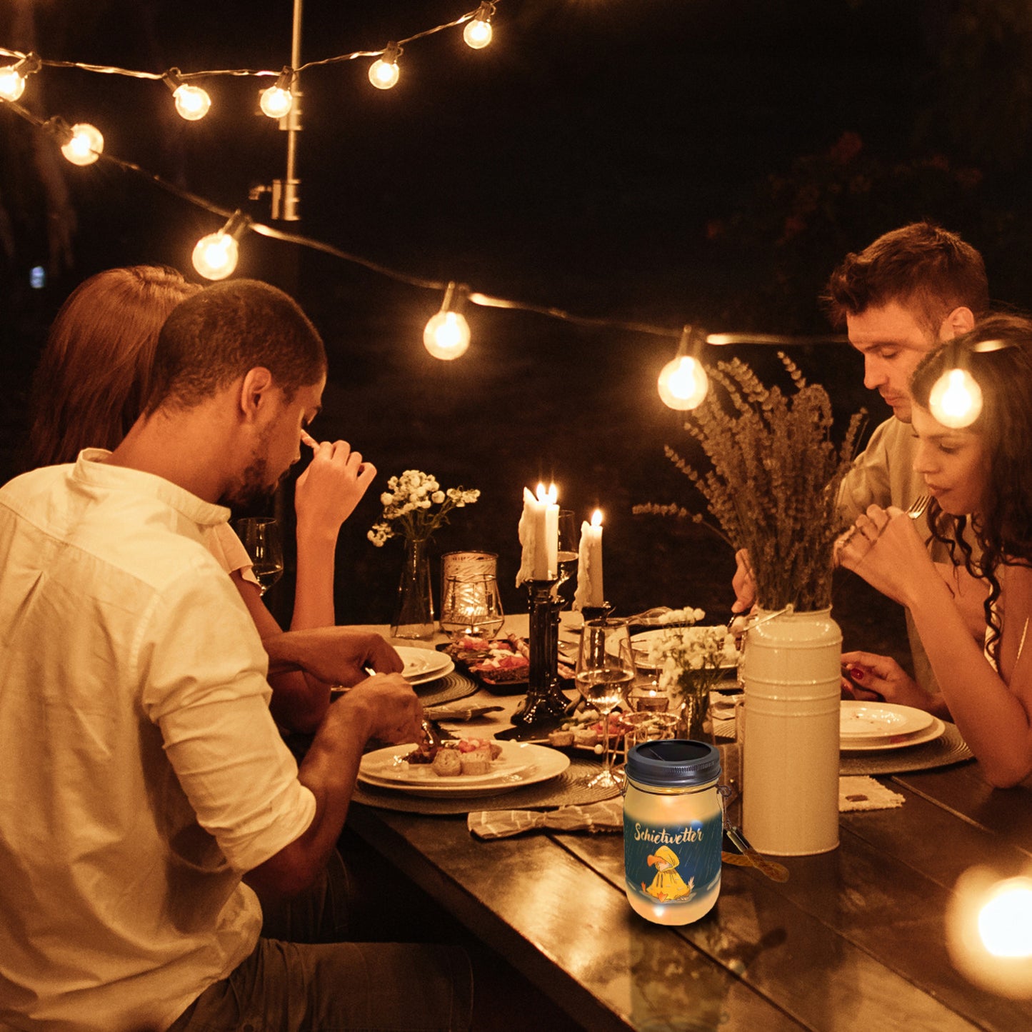
[[[162,324],[180,301],[202,289],[172,268],[133,265],[98,272],[72,291],[51,326],[33,381],[31,466],[73,462],[84,448],[111,450],[122,441],[147,402]],[[293,631],[334,623],[337,534],[376,476],[376,467],[347,442],[312,447],[312,461],[294,491]],[[229,524],[217,527],[205,544],[233,579],[262,638],[279,634]],[[328,686],[300,673],[269,681],[276,718],[294,731],[315,730],[329,705]]]

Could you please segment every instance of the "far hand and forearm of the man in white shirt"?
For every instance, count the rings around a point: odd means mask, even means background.
[[[378,674],[400,673],[405,664],[380,635],[346,627],[286,631],[264,639],[269,673],[304,670],[327,684],[351,686]]]

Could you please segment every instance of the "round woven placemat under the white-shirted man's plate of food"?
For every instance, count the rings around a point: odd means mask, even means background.
[[[529,784],[525,788],[514,788],[499,796],[471,796],[466,799],[449,799],[447,796],[424,799],[409,796],[393,788],[374,788],[359,782],[351,797],[353,803],[378,806],[385,810],[401,813],[470,813],[472,810],[518,810],[554,806],[583,806],[586,803],[601,803],[618,795],[616,788],[587,788],[581,782],[598,774],[598,761],[573,760],[557,777]]]

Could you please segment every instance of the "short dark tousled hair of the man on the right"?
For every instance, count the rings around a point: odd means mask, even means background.
[[[981,255],[957,233],[932,222],[913,222],[845,256],[821,297],[832,323],[892,301],[914,311],[936,332],[954,309],[975,318],[989,310],[989,280]]]

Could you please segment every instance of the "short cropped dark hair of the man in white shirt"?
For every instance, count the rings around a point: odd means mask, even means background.
[[[183,301],[161,327],[147,411],[191,408],[259,365],[289,398],[323,376],[326,351],[282,290],[257,280],[213,284]]]

